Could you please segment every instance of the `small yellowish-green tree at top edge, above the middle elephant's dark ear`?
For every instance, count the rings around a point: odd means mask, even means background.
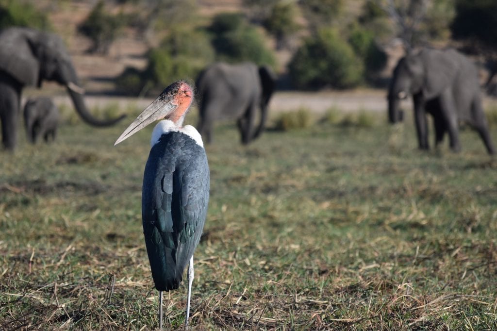
[[[289,38],[301,28],[296,21],[298,10],[295,2],[279,1],[264,20],[264,27],[276,38],[277,49],[287,47]]]

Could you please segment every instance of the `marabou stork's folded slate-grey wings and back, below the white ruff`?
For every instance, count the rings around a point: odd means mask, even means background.
[[[145,167],[142,217],[152,276],[159,291],[179,286],[195,250],[209,200],[209,166],[187,135],[163,135]]]

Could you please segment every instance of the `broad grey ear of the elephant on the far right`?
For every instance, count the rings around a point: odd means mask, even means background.
[[[458,57],[450,50],[426,49],[420,53],[424,63],[425,82],[423,94],[429,99],[450,86],[458,72]]]

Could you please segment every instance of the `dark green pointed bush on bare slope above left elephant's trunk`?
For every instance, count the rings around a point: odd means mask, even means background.
[[[107,54],[123,25],[122,17],[107,13],[104,6],[103,0],[98,1],[88,17],[78,26],[78,31],[93,42],[88,50],[90,53]]]

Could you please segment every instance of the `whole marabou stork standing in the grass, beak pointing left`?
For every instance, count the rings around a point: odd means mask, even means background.
[[[209,201],[209,165],[202,137],[191,125],[182,126],[193,100],[185,82],[170,84],[114,145],[150,123],[160,121],[152,133],[142,192],[145,244],[155,287],[159,290],[159,320],[162,329],[162,294],[178,288],[186,263],[190,316],[193,251],[200,241]]]

